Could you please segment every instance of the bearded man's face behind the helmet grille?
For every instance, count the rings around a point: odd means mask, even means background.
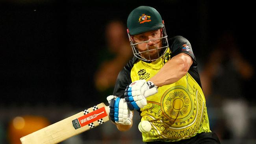
[[[148,31],[145,33],[134,35],[133,39],[134,39],[134,43],[143,42],[141,44],[136,44],[136,48],[139,50],[139,52],[143,52],[141,53],[142,57],[145,57],[147,60],[150,60],[150,59],[157,59],[159,57],[158,53],[159,55],[161,55],[161,50],[157,49],[162,46],[162,40],[158,39],[160,37],[162,37],[162,30],[158,29],[158,30]],[[154,39],[157,39],[157,40],[154,40]],[[148,41],[148,42],[144,42],[144,41]]]

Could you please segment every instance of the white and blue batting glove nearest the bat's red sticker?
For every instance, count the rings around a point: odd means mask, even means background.
[[[132,111],[127,107],[127,103],[123,98],[117,96],[108,96],[109,102],[109,117],[112,122],[121,125],[132,124]]]

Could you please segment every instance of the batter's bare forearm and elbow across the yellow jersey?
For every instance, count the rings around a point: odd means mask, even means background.
[[[178,54],[170,59],[149,81],[158,87],[175,83],[186,75],[192,64],[193,60],[188,54]]]

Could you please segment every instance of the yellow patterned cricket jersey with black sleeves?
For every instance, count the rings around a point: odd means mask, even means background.
[[[152,129],[142,133],[144,142],[172,142],[187,139],[197,133],[211,132],[202,92],[197,63],[190,43],[181,36],[172,38],[171,46],[161,59],[147,63],[133,58],[119,74],[114,95],[123,97],[123,90],[131,82],[154,76],[174,55],[181,52],[191,55],[193,65],[176,83],[158,88],[158,93],[147,98],[147,105],[140,109],[141,120],[151,123]]]

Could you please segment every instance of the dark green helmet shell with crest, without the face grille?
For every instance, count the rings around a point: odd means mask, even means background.
[[[137,35],[163,28],[163,20],[153,7],[139,6],[128,16],[127,28],[130,35]]]

